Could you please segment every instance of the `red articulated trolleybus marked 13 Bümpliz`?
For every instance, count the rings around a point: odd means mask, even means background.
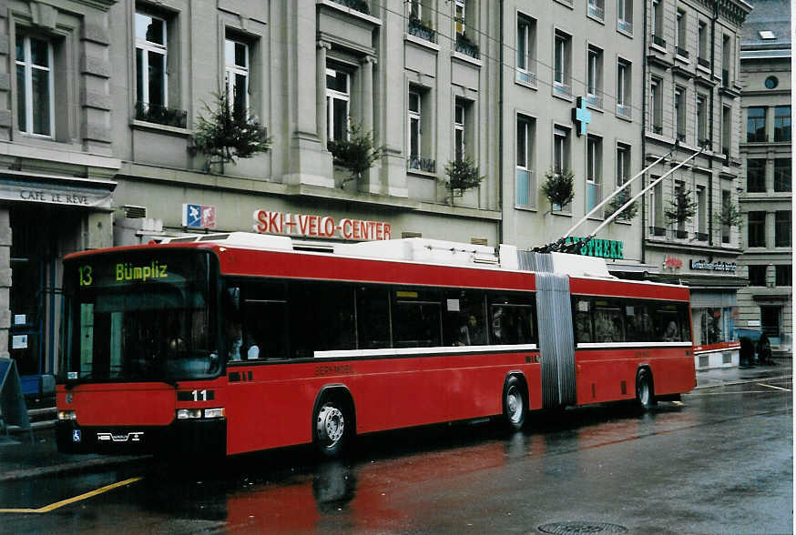
[[[61,450],[235,455],[695,386],[689,290],[599,258],[242,232],[65,259]]]

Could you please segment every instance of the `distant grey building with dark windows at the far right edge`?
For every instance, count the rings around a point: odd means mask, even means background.
[[[739,262],[749,287],[739,292],[740,328],[765,332],[790,350],[793,332],[791,8],[759,0],[740,43],[745,170]]]

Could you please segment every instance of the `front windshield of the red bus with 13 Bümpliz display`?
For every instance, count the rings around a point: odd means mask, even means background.
[[[63,381],[173,381],[219,373],[214,257],[132,250],[65,265]]]

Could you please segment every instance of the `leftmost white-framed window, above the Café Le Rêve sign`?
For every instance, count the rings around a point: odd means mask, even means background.
[[[16,125],[36,136],[55,134],[53,46],[44,39],[16,35]]]

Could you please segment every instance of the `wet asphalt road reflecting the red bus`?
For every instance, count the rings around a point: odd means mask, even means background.
[[[245,456],[200,476],[172,463],[0,484],[8,533],[791,533],[791,379],[695,390],[647,413],[567,409],[510,434],[495,423]],[[583,526],[592,529],[584,530]],[[600,528],[602,531],[597,531]]]

